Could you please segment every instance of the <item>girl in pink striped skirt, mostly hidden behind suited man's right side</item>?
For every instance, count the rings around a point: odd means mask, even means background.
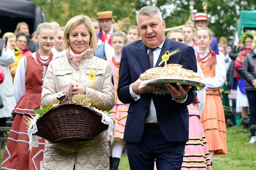
[[[185,34],[180,29],[173,29],[168,34],[169,39],[186,43]],[[197,73],[204,78],[202,69],[197,64]],[[189,134],[183,156],[182,170],[185,169],[208,169],[211,170],[211,161],[207,141],[200,122],[205,104],[205,90],[197,92],[196,100],[188,105]]]

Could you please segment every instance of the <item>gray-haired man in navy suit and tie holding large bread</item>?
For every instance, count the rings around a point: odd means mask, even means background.
[[[149,48],[157,48],[153,51],[154,67],[164,65],[159,63],[166,51],[180,48],[167,64],[181,64],[197,72],[195,51],[184,43],[167,39],[166,24],[158,7],[145,6],[136,14],[141,40],[123,47],[117,88],[119,100],[130,103],[124,132],[130,169],[153,170],[155,161],[159,170],[181,169],[188,141],[187,105],[195,100],[196,87],[177,83],[175,88],[165,84],[170,93],[156,95],[150,91],[160,90],[158,85],[138,89],[142,82],[139,77],[150,68]]]

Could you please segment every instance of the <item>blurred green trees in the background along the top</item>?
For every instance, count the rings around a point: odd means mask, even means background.
[[[65,25],[75,15],[84,13],[96,18],[97,12],[113,11],[117,18],[130,18],[131,25],[137,25],[135,11],[146,5],[152,5],[151,0],[31,0],[46,13],[48,22],[57,21]],[[212,19],[209,28],[217,38],[225,36],[231,39],[238,26],[240,10],[254,10],[255,0],[194,0],[194,9],[203,12],[202,2],[207,2],[208,17]],[[158,0],[157,6],[162,12],[166,27],[180,26],[189,18],[189,0]]]

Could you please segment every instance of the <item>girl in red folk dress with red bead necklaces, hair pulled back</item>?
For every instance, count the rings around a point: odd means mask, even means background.
[[[39,50],[20,59],[14,79],[16,101],[12,115],[13,125],[5,147],[1,169],[38,170],[43,160],[44,139],[39,147],[29,151],[29,138],[25,117],[34,115],[33,109],[41,107],[41,92],[48,64],[56,57],[51,52],[55,42],[55,28],[48,22],[37,27],[35,39]]]

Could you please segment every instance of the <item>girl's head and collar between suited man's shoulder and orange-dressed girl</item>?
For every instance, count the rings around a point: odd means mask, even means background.
[[[198,46],[194,44],[194,37],[196,35],[196,31],[193,27],[190,25],[186,25],[182,28],[182,31],[184,32],[186,36],[186,44],[193,47],[195,50],[195,53],[197,52]]]

